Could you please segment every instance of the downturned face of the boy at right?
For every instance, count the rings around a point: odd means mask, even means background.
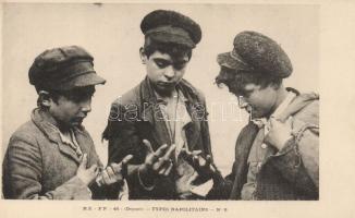
[[[245,109],[252,119],[268,117],[276,109],[278,92],[271,85],[261,88],[260,85],[248,83],[242,92],[231,92],[237,97],[240,108]]]

